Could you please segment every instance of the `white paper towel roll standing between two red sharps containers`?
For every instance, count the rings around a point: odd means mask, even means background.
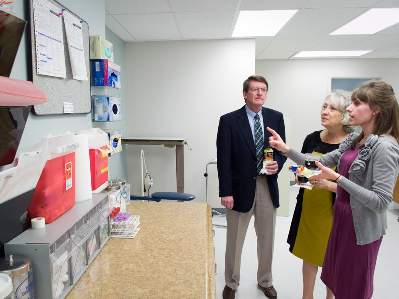
[[[75,134],[74,142],[80,142],[81,147],[76,150],[76,179],[75,179],[75,201],[82,202],[92,199],[89,140],[87,134]]]

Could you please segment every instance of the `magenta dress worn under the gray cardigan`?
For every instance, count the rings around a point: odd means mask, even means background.
[[[348,149],[341,157],[339,174],[348,178],[348,170],[359,149]],[[349,193],[337,186],[333,225],[324,257],[321,280],[335,299],[370,299],[377,253],[382,241],[356,244]]]

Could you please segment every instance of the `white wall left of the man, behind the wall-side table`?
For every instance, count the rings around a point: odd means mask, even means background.
[[[185,137],[186,193],[205,201],[205,166],[216,158],[221,115],[245,102],[242,83],[255,71],[255,41],[207,40],[125,44],[126,137]],[[176,192],[175,149],[128,145],[131,194],[140,195],[140,151],[157,191]],[[210,165],[209,200],[221,207],[215,165]]]

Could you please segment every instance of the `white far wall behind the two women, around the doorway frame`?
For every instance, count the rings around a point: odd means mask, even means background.
[[[291,144],[297,150],[306,135],[323,129],[320,108],[329,75],[382,74],[399,95],[399,59],[256,60],[256,73],[270,85],[265,105],[292,120]]]

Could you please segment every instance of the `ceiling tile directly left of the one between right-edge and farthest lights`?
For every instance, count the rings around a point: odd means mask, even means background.
[[[311,45],[322,35],[312,36],[276,36],[273,41],[264,50],[265,52],[278,52],[278,51],[302,51],[307,46]]]

